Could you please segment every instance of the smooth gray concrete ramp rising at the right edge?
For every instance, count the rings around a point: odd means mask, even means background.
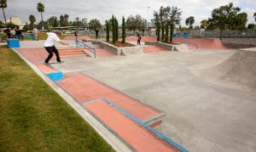
[[[241,49],[201,76],[219,85],[256,93],[256,48]]]

